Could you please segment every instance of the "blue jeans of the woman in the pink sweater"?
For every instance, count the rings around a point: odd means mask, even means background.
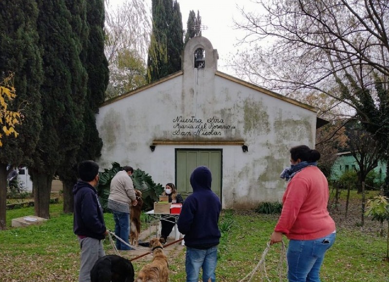
[[[289,282],[320,282],[319,273],[324,254],[333,245],[335,234],[315,240],[289,241],[286,252]]]

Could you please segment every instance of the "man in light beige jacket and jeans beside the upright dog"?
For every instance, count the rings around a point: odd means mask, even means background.
[[[112,178],[110,195],[108,197],[108,208],[112,210],[115,221],[115,235],[129,244],[130,235],[130,207],[136,206],[135,190],[132,184],[131,175],[134,172],[129,166],[116,173]],[[133,248],[116,239],[116,248],[127,251]]]

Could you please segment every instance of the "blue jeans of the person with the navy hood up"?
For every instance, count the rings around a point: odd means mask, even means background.
[[[208,249],[186,247],[185,271],[186,282],[198,282],[200,267],[203,268],[203,281],[216,281],[216,263],[218,261],[218,246]]]

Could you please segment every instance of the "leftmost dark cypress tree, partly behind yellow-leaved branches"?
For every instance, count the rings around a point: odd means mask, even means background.
[[[0,78],[14,73],[17,97],[11,111],[21,110],[17,138],[3,135],[0,149],[0,229],[5,229],[7,164],[31,165],[41,131],[40,85],[42,58],[37,34],[38,9],[35,0],[0,1]]]

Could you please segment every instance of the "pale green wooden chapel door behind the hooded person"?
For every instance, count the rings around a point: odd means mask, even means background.
[[[222,150],[176,150],[176,187],[183,197],[193,193],[190,185],[190,174],[199,167],[205,166],[212,173],[212,191],[219,198],[222,193]]]

